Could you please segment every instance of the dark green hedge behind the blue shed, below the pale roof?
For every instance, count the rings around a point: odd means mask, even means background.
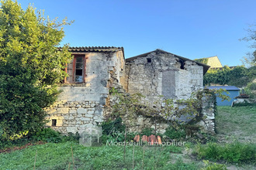
[[[230,69],[230,67],[224,66],[221,70],[208,70],[203,76],[203,84],[206,86],[210,83],[216,83],[244,87],[248,82],[254,80],[255,75],[255,69],[253,68],[247,69],[244,66],[236,66]]]

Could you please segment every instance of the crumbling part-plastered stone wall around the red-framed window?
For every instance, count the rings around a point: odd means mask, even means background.
[[[104,120],[109,88],[118,85],[123,75],[122,51],[84,54],[85,83],[61,84],[57,102],[46,109],[47,126],[63,133],[81,133],[100,124]]]

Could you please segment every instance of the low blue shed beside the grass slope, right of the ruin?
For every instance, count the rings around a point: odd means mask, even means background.
[[[223,100],[220,98],[220,97],[216,97],[216,101],[217,101],[217,106],[231,106],[232,105],[232,102],[234,100],[237,100],[236,97],[239,96],[239,91],[240,89],[237,88],[237,87],[234,87],[234,86],[215,86],[215,87],[207,87],[208,89],[216,89],[216,90],[219,90],[219,89],[224,89],[224,90],[227,90],[227,92],[229,93],[223,93],[227,96],[230,97],[230,101],[228,100]]]

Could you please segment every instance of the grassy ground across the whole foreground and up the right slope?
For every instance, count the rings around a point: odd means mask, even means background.
[[[209,159],[216,165],[226,164],[228,169],[256,169],[254,159],[250,163],[234,163],[247,156],[255,147],[256,107],[218,107],[216,115],[216,138],[219,143],[166,147],[126,147],[126,161],[123,159],[123,146],[85,148],[76,142],[47,143],[0,154],[0,169],[202,169],[206,167],[202,159]],[[240,141],[237,145],[224,145]],[[250,145],[250,143],[254,145]],[[247,145],[244,145],[247,143]],[[72,151],[71,151],[72,146]],[[234,146],[234,147],[233,147]],[[233,147],[233,148],[232,148]],[[222,151],[227,149],[227,151]],[[233,151],[233,150],[234,151]],[[243,156],[240,156],[240,151]],[[197,151],[197,155],[195,155]],[[228,153],[230,151],[230,153]],[[235,153],[236,152],[236,153]],[[227,155],[228,153],[228,155]],[[222,157],[220,156],[222,154]],[[73,156],[72,156],[73,155]],[[215,157],[212,157],[214,155]],[[219,160],[223,158],[223,160]],[[225,161],[231,160],[231,163]],[[231,158],[231,159],[230,159]],[[232,160],[234,158],[234,162]],[[251,158],[254,158],[253,156]],[[74,163],[73,163],[74,160]],[[252,162],[252,163],[251,163]],[[74,167],[73,167],[74,164]],[[220,169],[220,168],[214,168]],[[222,168],[225,169],[225,168]]]

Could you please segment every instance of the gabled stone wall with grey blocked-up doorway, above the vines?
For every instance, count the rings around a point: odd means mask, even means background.
[[[171,53],[149,53],[126,63],[127,92],[149,98],[187,99],[202,88],[203,68]]]

